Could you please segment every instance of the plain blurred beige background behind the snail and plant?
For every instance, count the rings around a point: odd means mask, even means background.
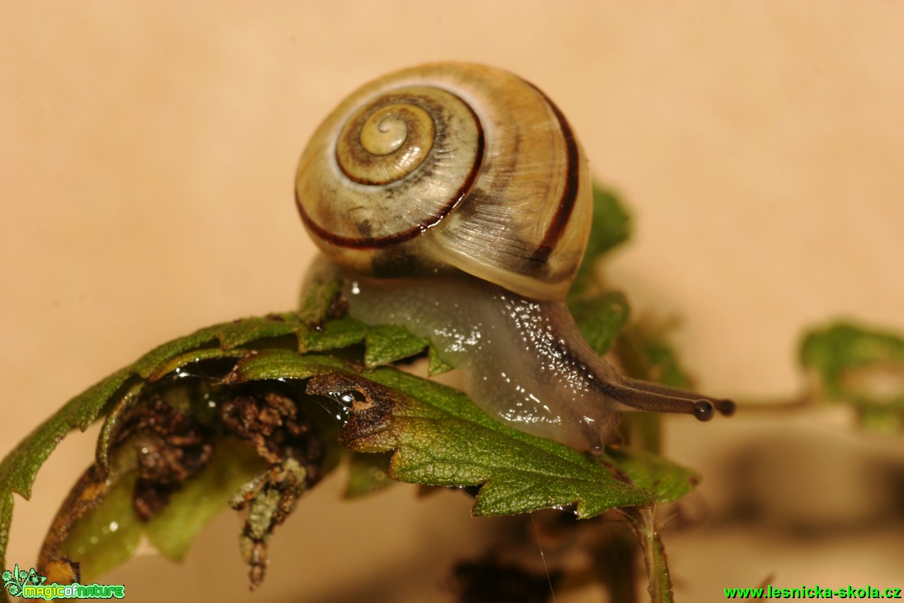
[[[556,100],[636,214],[634,244],[607,277],[639,311],[682,316],[675,340],[707,391],[792,394],[797,336],[828,317],[904,331],[904,4],[2,9],[0,454],[151,346],[293,306],[313,249],[291,193],[307,137],[363,81],[428,60],[504,67]],[[672,456],[707,476],[688,504],[711,516],[666,534],[678,600],[720,600],[721,587],[770,573],[784,586],[904,586],[904,530],[888,514],[900,439],[870,440],[848,419],[670,423]],[[90,448],[67,440],[33,504],[17,507],[10,563],[33,560]],[[721,461],[736,454],[747,464]],[[884,463],[892,473],[873,478]],[[740,483],[764,486],[756,521],[725,511]],[[491,521],[469,519],[463,496],[415,503],[399,487],[336,504],[338,488],[325,484],[277,535],[257,595],[231,516],[186,566],[142,558],[109,581],[133,601],[156,600],[153,589],[186,601],[432,600],[443,555],[482,551],[455,538]],[[392,532],[386,513],[399,507],[406,527]],[[808,522],[818,529],[798,537]],[[381,544],[362,546],[371,540]],[[381,590],[393,571],[407,591]]]

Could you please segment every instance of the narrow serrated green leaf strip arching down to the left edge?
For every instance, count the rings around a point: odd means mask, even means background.
[[[99,441],[99,462],[101,466],[106,466],[108,438],[117,425],[118,414],[129,407],[144,383],[157,382],[167,374],[179,372],[184,367],[197,363],[218,359],[234,362],[254,352],[253,349],[240,347],[250,344],[261,349],[263,354],[249,365],[257,371],[257,379],[265,378],[265,369],[261,363],[278,360],[276,356],[267,354],[270,352],[295,355],[295,350],[303,353],[333,350],[366,342],[365,354],[369,365],[375,365],[392,362],[425,349],[425,340],[410,334],[400,334],[395,327],[370,327],[347,318],[329,320],[325,326],[311,324],[311,320],[322,320],[328,314],[335,290],[333,286],[315,287],[312,295],[307,297],[306,315],[287,312],[240,319],[212,325],[162,344],[139,358],[136,363],[113,373],[76,396],[34,429],[0,464],[0,566],[5,564],[9,527],[13,517],[13,494],[29,498],[34,477],[53,448],[71,429],[88,429],[105,409],[115,410]],[[287,336],[293,336],[292,340],[285,341]],[[265,349],[273,345],[276,347]],[[337,370],[342,362],[331,357],[316,356],[312,358],[312,364],[317,364],[319,370],[324,371]],[[291,374],[278,374],[279,369],[278,362],[270,365],[270,370],[276,371],[272,373],[273,378],[293,377]],[[233,378],[240,382],[241,373]]]

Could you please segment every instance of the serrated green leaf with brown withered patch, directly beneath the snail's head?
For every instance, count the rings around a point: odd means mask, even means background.
[[[366,377],[366,378],[364,378]],[[474,513],[526,513],[577,504],[579,517],[652,496],[578,451],[509,428],[460,391],[391,369],[315,376],[310,394],[359,391],[340,434],[345,448],[395,450],[389,475],[413,484],[483,485]]]

